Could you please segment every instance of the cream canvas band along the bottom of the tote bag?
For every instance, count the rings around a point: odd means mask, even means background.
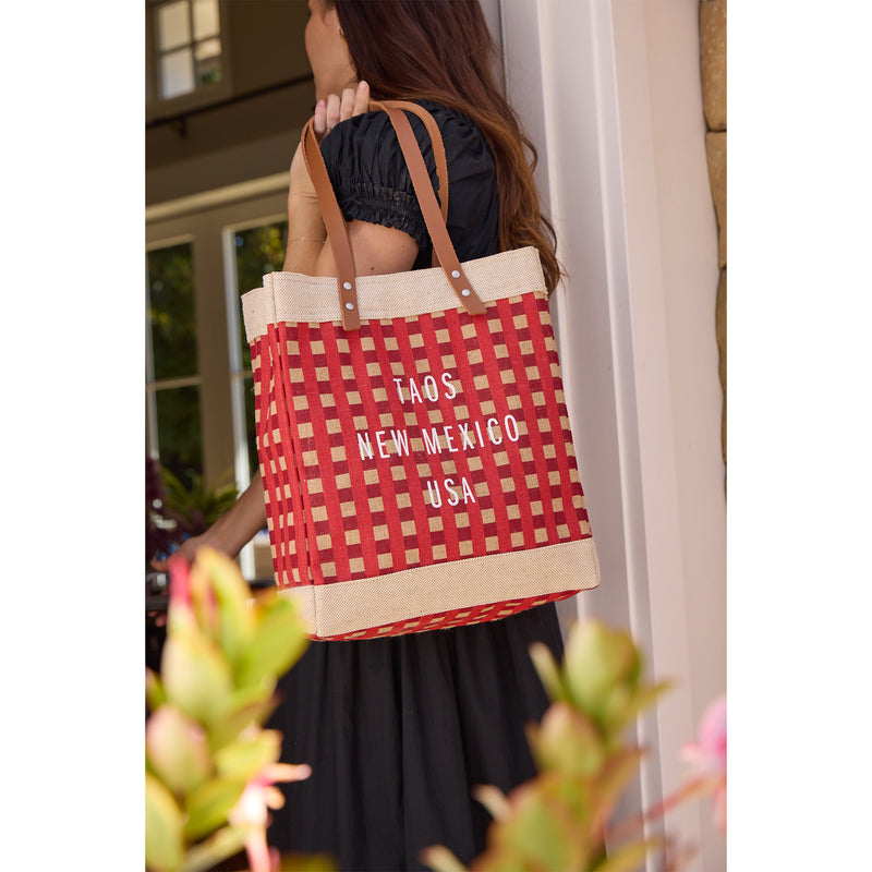
[[[296,600],[314,635],[328,638],[457,609],[461,603],[479,606],[598,583],[596,546],[583,538],[280,593]]]

